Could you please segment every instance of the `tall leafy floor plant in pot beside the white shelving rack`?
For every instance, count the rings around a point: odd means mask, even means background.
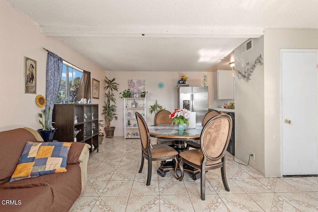
[[[108,79],[107,76],[105,76],[105,82],[106,82],[106,86],[104,89],[105,89],[106,101],[105,101],[105,105],[103,106],[103,112],[101,114],[104,115],[104,119],[105,119],[105,126],[104,126],[105,137],[113,138],[115,127],[111,127],[110,123],[114,119],[118,120],[117,113],[116,113],[117,106],[115,105],[116,99],[113,92],[118,91],[119,84],[115,82],[115,78]]]

